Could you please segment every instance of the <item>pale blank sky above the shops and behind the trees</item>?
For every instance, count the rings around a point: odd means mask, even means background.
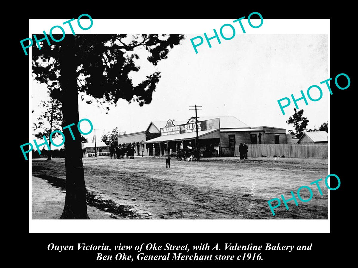
[[[117,107],[112,106],[106,114],[104,107],[79,99],[79,118],[92,121],[97,141],[104,131],[116,126],[131,133],[145,130],[150,121],[188,120],[195,115],[188,106],[194,104],[203,106],[198,116],[235,116],[251,127],[289,129],[286,120],[295,106],[291,100],[291,106],[285,108],[286,114],[282,115],[277,100],[291,94],[300,98],[300,90],[306,94],[309,86],[320,85],[331,77],[327,35],[238,35],[222,40],[222,44],[213,39],[212,48],[204,43],[197,47],[198,54],[190,43],[190,38],[197,35],[185,36],[180,45],[170,50],[168,59],[161,60],[157,66],[148,63],[146,57],[137,62],[141,69],[133,75],[136,83],[156,70],[161,72],[150,104],[140,107],[120,100]],[[310,101],[306,96],[309,105],[303,100],[298,102],[310,121],[308,128],[319,128],[328,121],[330,95],[325,86],[321,88],[323,97],[319,101]],[[319,96],[316,90],[311,91],[312,98]],[[48,98],[46,85],[33,80],[32,96],[34,122],[41,111],[38,104]],[[89,142],[92,136],[93,132],[86,136]]]

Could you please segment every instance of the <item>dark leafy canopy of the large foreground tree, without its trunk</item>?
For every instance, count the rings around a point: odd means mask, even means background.
[[[168,58],[169,49],[183,39],[184,36],[179,34],[66,35],[61,42],[52,42],[50,47],[42,42],[41,50],[35,47],[36,43],[33,45],[32,72],[36,80],[49,83],[52,96],[61,100],[59,76],[64,52],[71,55],[72,64],[76,66],[79,92],[113,103],[119,99],[129,103],[137,101],[142,106],[151,102],[160,72],[156,71],[133,85],[130,73],[140,69],[136,64],[139,59],[136,51],[145,48],[147,60],[157,65],[161,59]]]

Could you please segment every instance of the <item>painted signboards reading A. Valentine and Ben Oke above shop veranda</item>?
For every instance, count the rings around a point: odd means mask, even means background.
[[[187,124],[178,125],[178,126],[174,125],[173,121],[169,119],[166,123],[165,128],[160,129],[160,135],[165,136],[165,135],[195,132],[197,125],[198,125],[198,131],[217,129],[219,128],[219,118],[205,120],[205,121],[198,121],[197,123],[195,123],[195,119],[190,119]]]

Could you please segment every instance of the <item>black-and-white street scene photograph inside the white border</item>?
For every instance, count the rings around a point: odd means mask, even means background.
[[[251,33],[34,43],[31,218],[328,219],[328,35]]]

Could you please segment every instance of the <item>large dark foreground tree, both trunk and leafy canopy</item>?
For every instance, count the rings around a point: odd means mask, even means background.
[[[37,35],[42,38],[43,35]],[[53,35],[60,40],[62,35]],[[32,49],[32,75],[46,83],[50,96],[62,102],[62,126],[79,121],[78,95],[86,95],[101,104],[116,105],[120,99],[140,106],[149,104],[160,72],[144,75],[133,83],[139,71],[140,56],[156,66],[168,58],[169,50],[184,39],[180,34],[83,34],[66,35],[61,42],[41,41],[42,49]],[[91,103],[91,100],[86,100]],[[108,111],[107,111],[108,113]],[[61,219],[86,219],[86,185],[84,183],[81,134],[74,128],[74,139],[65,133],[66,200]]]

